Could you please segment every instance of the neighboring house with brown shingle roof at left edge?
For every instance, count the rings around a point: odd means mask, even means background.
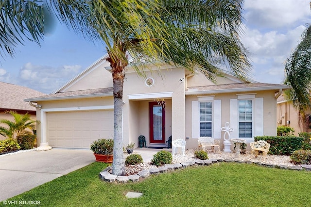
[[[0,120],[12,120],[13,117],[7,114],[6,111],[16,111],[19,114],[30,114],[33,120],[36,119],[36,108],[24,102],[24,99],[43,96],[44,93],[34,89],[17,86],[14,84],[0,82]],[[5,124],[3,126],[6,126]],[[0,135],[0,140],[5,139]]]

